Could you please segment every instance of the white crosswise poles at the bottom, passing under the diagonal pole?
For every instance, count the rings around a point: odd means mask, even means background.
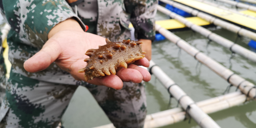
[[[154,66],[154,63],[150,61],[150,67]],[[155,68],[155,67],[153,67]],[[157,72],[157,71],[156,71]],[[200,107],[204,112],[212,113],[219,110],[243,103],[246,98],[241,92],[232,92],[222,96],[217,96],[207,100],[196,102],[197,106]],[[158,128],[180,122],[186,118],[186,112],[182,108],[172,108],[162,112],[156,112],[148,114],[145,119],[144,128]],[[94,128],[115,128],[113,124],[106,124]]]

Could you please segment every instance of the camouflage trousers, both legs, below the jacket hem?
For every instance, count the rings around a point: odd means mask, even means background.
[[[125,82],[122,90],[88,83],[83,86],[116,128],[143,127],[146,96],[142,84]],[[0,108],[0,128],[56,128],[77,87],[38,81],[11,71]]]

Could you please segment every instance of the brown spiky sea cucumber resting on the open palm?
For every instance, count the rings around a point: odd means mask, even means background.
[[[123,40],[123,42],[111,42],[106,39],[106,45],[98,49],[89,49],[86,55],[90,58],[84,59],[87,62],[85,68],[78,72],[84,72],[85,81],[95,77],[116,74],[120,68],[127,68],[128,64],[145,57],[146,52],[142,51],[140,41]]]

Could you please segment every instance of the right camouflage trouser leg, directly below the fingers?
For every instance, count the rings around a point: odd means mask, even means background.
[[[124,82],[122,90],[91,84],[86,88],[116,128],[143,128],[147,111],[142,83]]]

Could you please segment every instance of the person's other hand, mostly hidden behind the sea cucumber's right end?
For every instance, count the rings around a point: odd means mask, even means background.
[[[151,40],[146,40],[146,39],[140,39],[138,41],[141,41],[143,42],[143,44],[140,44],[141,47],[142,47],[142,51],[145,51],[146,54],[145,54],[145,57],[148,59],[148,61],[151,60],[151,50],[152,50],[152,41]]]

